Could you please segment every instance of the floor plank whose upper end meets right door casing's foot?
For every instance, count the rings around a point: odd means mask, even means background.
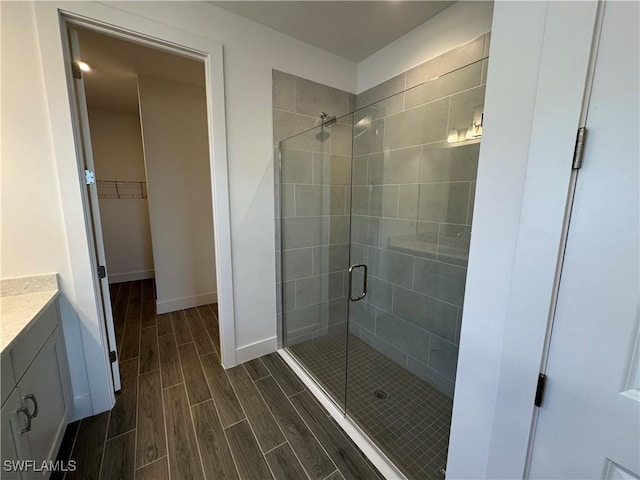
[[[264,403],[253,380],[242,365],[227,370],[238,400],[242,404],[249,424],[258,439],[260,448],[267,452],[285,441],[278,423]]]

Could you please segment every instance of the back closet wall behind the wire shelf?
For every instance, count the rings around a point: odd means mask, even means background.
[[[90,108],[89,125],[96,178],[146,182],[139,116]],[[99,203],[109,283],[153,277],[147,200]]]

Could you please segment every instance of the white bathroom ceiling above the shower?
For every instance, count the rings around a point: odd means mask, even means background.
[[[395,0],[209,3],[341,57],[361,62],[454,2]]]

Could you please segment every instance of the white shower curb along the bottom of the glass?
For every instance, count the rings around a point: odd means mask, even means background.
[[[309,376],[309,374],[300,366],[300,364],[291,356],[286,349],[278,350],[280,357],[291,367],[295,374],[302,380],[305,386],[311,391],[320,404],[327,409],[331,417],[336,421],[340,428],[355,442],[358,448],[373,463],[378,471],[389,479],[404,480],[407,477],[389,460],[368,438],[362,430],[340,410],[326,393],[318,386],[318,384]]]

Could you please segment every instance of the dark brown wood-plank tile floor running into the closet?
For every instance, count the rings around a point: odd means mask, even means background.
[[[74,479],[378,479],[277,354],[220,365],[217,305],[155,314],[153,280],[111,286],[122,390],[70,424]]]

